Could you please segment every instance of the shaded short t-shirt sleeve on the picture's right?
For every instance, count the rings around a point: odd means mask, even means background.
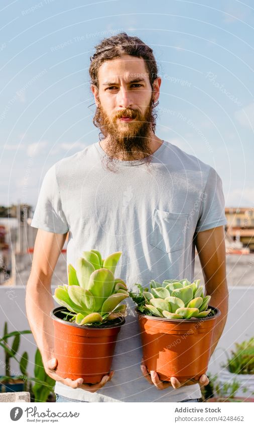
[[[222,181],[216,170],[209,170],[204,192],[201,195],[201,206],[196,232],[226,225],[225,200]]]

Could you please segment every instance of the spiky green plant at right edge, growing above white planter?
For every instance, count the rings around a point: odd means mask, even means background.
[[[227,362],[222,366],[233,374],[254,374],[254,337],[236,343],[231,357],[227,355]]]

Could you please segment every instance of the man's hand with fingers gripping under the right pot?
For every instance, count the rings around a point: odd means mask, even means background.
[[[150,374],[148,373],[147,367],[144,364],[143,359],[141,364],[141,371],[144,377],[146,378],[146,380],[150,384],[154,384],[155,387],[157,387],[159,390],[163,390],[164,388],[168,388],[169,386],[172,386],[173,388],[176,389],[182,386],[192,385],[197,383],[199,383],[200,387],[202,387],[209,383],[209,379],[204,374],[201,375],[201,377],[196,376],[190,380],[186,380],[183,382],[180,382],[176,377],[171,377],[170,381],[161,381],[156,371],[151,371]]]

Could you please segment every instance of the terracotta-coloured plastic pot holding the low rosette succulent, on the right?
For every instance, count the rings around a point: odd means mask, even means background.
[[[186,381],[205,374],[219,309],[203,319],[165,319],[136,312],[139,316],[144,363],[161,381],[176,377]]]

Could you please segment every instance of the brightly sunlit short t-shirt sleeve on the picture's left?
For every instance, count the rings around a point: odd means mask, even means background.
[[[55,165],[44,177],[31,226],[59,234],[65,234],[69,229],[62,209]]]

